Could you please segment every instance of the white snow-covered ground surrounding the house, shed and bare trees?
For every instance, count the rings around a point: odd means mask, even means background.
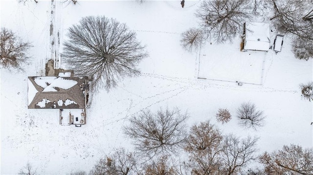
[[[1,175],[17,174],[27,161],[41,175],[89,171],[114,148],[133,149],[121,131],[128,117],[143,109],[156,111],[167,106],[187,110],[190,126],[210,119],[224,133],[259,136],[260,153],[290,143],[313,146],[312,102],[302,99],[299,89],[300,83],[313,79],[313,62],[295,59],[288,37],[277,55],[272,50],[267,54],[240,52],[238,40],[228,45],[210,45],[208,41],[201,53],[188,53],[180,46],[180,33],[197,26],[194,13],[198,0],[185,1],[184,8],[179,0],[56,3],[61,43],[66,39],[65,29],[81,17],[105,15],[136,31],[137,38],[147,45],[149,57],[139,64],[141,76],[125,78],[110,92],[93,96],[86,125],[60,126],[59,110],[27,109],[27,76],[43,76],[45,61],[51,55],[51,1],[23,4],[1,0],[1,27],[12,29],[34,45],[32,65],[25,67],[25,73],[0,71]],[[207,64],[201,61],[205,58]],[[198,79],[198,74],[208,79]],[[263,85],[228,82],[236,80]],[[255,103],[267,116],[266,125],[257,131],[237,123],[236,109],[246,101]],[[229,109],[233,116],[229,123],[216,122],[219,108]]]

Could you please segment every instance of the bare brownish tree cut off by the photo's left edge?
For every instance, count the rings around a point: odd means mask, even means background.
[[[28,63],[26,53],[32,47],[29,42],[23,42],[11,30],[1,28],[0,31],[0,65],[4,68],[22,70],[22,63]]]

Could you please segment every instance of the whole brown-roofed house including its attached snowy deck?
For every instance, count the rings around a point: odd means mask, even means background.
[[[28,109],[59,109],[61,125],[86,124],[88,77],[69,75],[28,77]]]

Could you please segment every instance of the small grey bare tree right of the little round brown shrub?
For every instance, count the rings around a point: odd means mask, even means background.
[[[256,109],[255,105],[250,102],[242,103],[237,110],[237,117],[239,118],[239,124],[246,128],[256,129],[265,125],[265,116],[263,111]]]

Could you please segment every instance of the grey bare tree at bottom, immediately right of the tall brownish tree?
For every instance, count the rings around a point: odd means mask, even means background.
[[[232,134],[224,137],[222,154],[223,175],[237,175],[248,162],[257,158],[254,155],[257,151],[257,140],[258,138],[249,136],[241,139]]]

